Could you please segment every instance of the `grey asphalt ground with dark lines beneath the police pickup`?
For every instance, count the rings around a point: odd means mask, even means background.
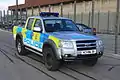
[[[19,56],[12,34],[0,30],[0,80],[119,80],[120,57],[111,56],[114,36],[98,36],[104,42],[105,53],[94,67],[75,61],[64,63],[61,69],[51,72],[45,68],[42,57],[34,53]]]

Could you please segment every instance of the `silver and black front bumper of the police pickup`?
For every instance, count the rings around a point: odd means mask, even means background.
[[[99,49],[95,54],[78,54],[78,51],[75,50],[62,50],[62,59],[64,61],[69,60],[84,60],[84,59],[92,59],[92,58],[100,58],[103,55],[103,49]]]

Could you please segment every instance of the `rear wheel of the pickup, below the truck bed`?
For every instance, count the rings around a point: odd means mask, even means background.
[[[19,38],[16,41],[16,48],[19,55],[26,55],[26,49],[22,43],[22,40]]]

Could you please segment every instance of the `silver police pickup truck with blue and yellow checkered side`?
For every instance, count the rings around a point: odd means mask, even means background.
[[[98,37],[80,33],[72,20],[59,17],[59,13],[28,17],[24,27],[13,27],[13,36],[19,55],[27,51],[41,55],[51,71],[59,69],[61,61],[82,60],[94,66],[104,50]]]

